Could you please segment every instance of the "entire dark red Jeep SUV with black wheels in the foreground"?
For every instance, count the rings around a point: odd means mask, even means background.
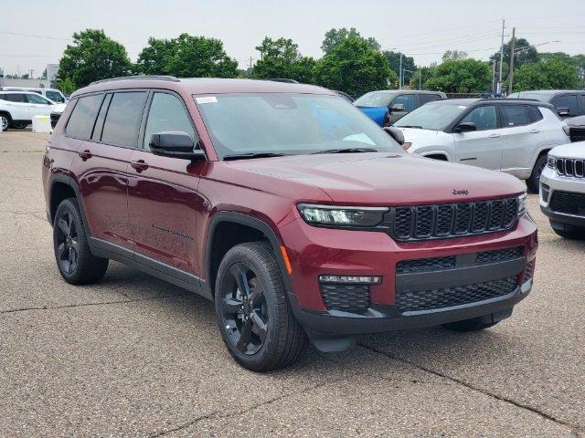
[[[516,178],[403,151],[318,87],[103,80],[73,94],[43,184],[58,269],[118,260],[215,301],[250,370],[356,335],[493,326],[532,287],[537,227]]]

